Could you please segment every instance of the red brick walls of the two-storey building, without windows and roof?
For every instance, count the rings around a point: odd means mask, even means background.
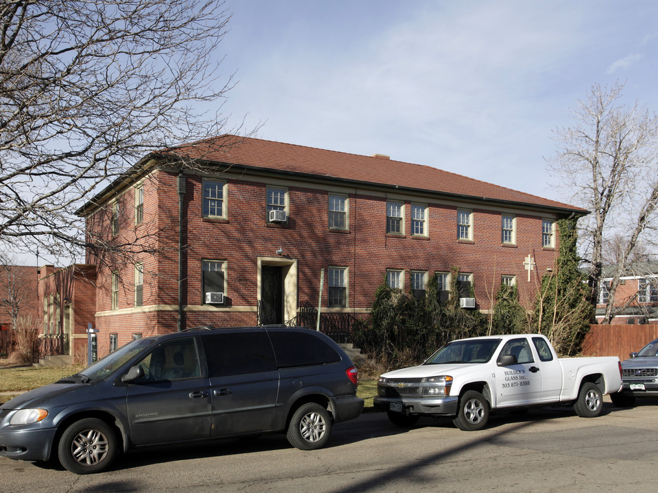
[[[219,177],[220,179],[222,177]],[[202,218],[202,179],[186,177],[184,214],[186,223],[184,304],[201,305],[201,261],[226,260],[230,309],[219,307],[207,312],[186,311],[186,325],[252,325],[256,323],[258,257],[276,257],[282,247],[284,256],[298,262],[299,301],[317,304],[320,269],[328,266],[349,268],[350,311],[365,312],[387,268],[405,269],[404,289],[410,288],[409,270],[449,272],[458,266],[462,273],[472,273],[478,307],[489,307],[492,290],[498,289],[501,275],[515,275],[522,302],[529,306],[539,277],[553,266],[557,249],[541,247],[541,214],[516,215],[514,247],[502,246],[501,212],[485,207],[473,210],[472,242],[456,240],[456,205],[429,203],[428,238],[411,236],[411,202],[424,199],[406,197],[403,236],[386,234],[386,202],[383,194],[352,190],[349,197],[349,224],[346,232],[327,227],[328,192],[290,182],[289,225],[266,224],[266,184],[247,178],[227,179],[227,220]],[[280,186],[278,184],[274,184]],[[119,344],[132,333],[172,331],[176,328],[175,305],[178,303],[178,194],[176,176],[156,172],[144,182],[145,214],[141,225],[134,225],[134,189],[127,188],[118,198],[121,211],[121,233],[112,238],[117,244],[135,245],[148,242],[160,253],[138,253],[144,263],[144,307],[134,307],[134,265],[121,257],[94,257],[97,264],[95,324],[101,330],[99,354],[109,344],[109,333],[119,333]],[[398,199],[398,197],[395,197]],[[107,210],[99,210],[88,218],[90,232],[108,237],[110,227]],[[512,210],[507,211],[513,214]],[[141,240],[140,238],[145,238]],[[524,257],[532,254],[537,263],[530,282],[524,269]],[[119,309],[110,311],[110,279],[112,270],[121,273]],[[323,306],[327,305],[324,285]],[[163,306],[166,309],[162,309]]]

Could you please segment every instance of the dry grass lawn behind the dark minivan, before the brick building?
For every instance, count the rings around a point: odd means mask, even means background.
[[[32,390],[42,385],[58,381],[66,375],[73,375],[82,370],[84,366],[9,366],[2,365],[0,361],[0,392],[16,392],[16,394],[0,394],[0,404],[12,399],[20,392]],[[376,380],[360,380],[356,393],[365,401],[364,411],[372,410],[372,399],[377,395]]]

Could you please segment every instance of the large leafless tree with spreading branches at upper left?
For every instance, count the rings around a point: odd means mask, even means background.
[[[215,0],[3,2],[0,250],[89,247],[73,212],[90,194],[147,151],[221,133],[229,18]]]

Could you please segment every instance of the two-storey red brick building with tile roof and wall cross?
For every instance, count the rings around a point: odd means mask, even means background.
[[[437,273],[448,290],[453,267],[465,305],[486,311],[515,283],[529,307],[556,220],[587,211],[385,155],[221,136],[147,155],[78,213],[90,240],[132,255],[43,268],[60,317],[44,327],[81,357],[93,324],[100,357],[186,327],[288,322],[317,306],[323,269],[323,314],[365,316],[382,281],[422,295]]]

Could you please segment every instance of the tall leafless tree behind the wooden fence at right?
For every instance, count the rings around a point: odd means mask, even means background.
[[[574,111],[574,126],[557,131],[561,149],[551,163],[564,188],[573,192],[571,201],[592,211],[579,226],[590,262],[592,305],[598,299],[605,238],[622,237],[603,323],[613,318],[615,291],[634,252],[654,241],[658,205],[658,119],[637,103],[620,104],[622,88],[592,87]]]

